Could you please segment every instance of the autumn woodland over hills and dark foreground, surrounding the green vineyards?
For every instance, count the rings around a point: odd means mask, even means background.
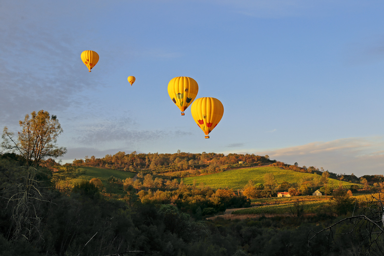
[[[56,145],[57,136],[62,132],[56,116],[45,111],[32,112],[20,125],[22,131],[16,137],[7,128],[2,135],[0,255],[384,253],[381,220],[384,190],[380,185],[375,193],[364,195],[362,200],[339,186],[331,199],[321,202],[321,208],[309,214],[304,206],[308,200],[316,199],[305,196],[306,201],[293,200],[286,204],[289,210],[284,214],[262,213],[252,218],[225,219],[215,215],[228,208],[249,207],[252,196],[231,189],[213,189],[204,183],[187,185],[182,180],[154,178],[155,172],[166,173],[169,171],[166,168],[175,172],[203,169],[221,172],[225,159],[236,159],[232,164],[225,164],[225,168],[232,168],[240,159],[246,164],[277,164],[299,172],[308,172],[310,168],[270,161],[267,156],[182,152],[142,154],[141,157],[119,152],[120,158],[108,156],[109,162],[105,163],[102,159],[88,160],[87,157],[82,162],[75,160],[76,165],[60,165],[54,159],[65,154],[66,149]],[[219,162],[222,159],[223,162]],[[78,165],[91,165],[92,161],[99,161],[99,167],[104,168],[112,165],[111,168],[133,169],[137,178],[119,181],[110,177],[105,185],[98,178],[74,182],[83,174]],[[321,173],[323,185],[330,176],[327,171]],[[271,192],[278,189],[273,180],[267,173],[263,193],[255,198],[271,198]],[[141,183],[140,186],[136,187],[135,182]],[[256,186],[250,181],[246,188]],[[261,207],[255,203],[254,206]]]

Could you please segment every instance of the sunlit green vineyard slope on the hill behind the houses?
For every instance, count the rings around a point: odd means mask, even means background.
[[[185,184],[193,184],[196,180],[196,184],[204,182],[212,188],[243,188],[248,180],[253,180],[255,183],[263,183],[265,173],[273,173],[275,180],[278,184],[283,181],[289,183],[298,183],[301,178],[315,178],[319,177],[318,174],[294,172],[292,170],[284,170],[279,167],[257,167],[257,168],[244,168],[229,170],[220,173],[214,173],[204,176],[195,176],[183,178]],[[339,180],[329,179],[329,186],[338,187]],[[342,182],[343,187],[349,188],[350,185],[354,185],[349,182]]]

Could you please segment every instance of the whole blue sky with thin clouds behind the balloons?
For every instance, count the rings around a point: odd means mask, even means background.
[[[384,174],[383,13],[353,0],[3,0],[0,126],[55,114],[63,162],[180,149]],[[91,73],[84,50],[100,56]],[[169,98],[176,76],[223,103],[210,139]]]

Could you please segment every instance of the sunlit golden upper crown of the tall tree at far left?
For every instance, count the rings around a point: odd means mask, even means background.
[[[63,156],[67,150],[58,147],[57,137],[63,132],[56,116],[51,116],[47,111],[40,110],[37,114],[27,114],[24,121],[19,121],[22,130],[17,138],[7,127],[3,130],[2,147],[12,152],[17,152],[26,159],[26,165],[38,167],[43,160]]]

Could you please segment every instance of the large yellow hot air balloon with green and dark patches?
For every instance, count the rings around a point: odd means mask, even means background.
[[[168,94],[184,116],[184,110],[194,101],[199,91],[197,82],[187,76],[178,76],[168,83]]]

